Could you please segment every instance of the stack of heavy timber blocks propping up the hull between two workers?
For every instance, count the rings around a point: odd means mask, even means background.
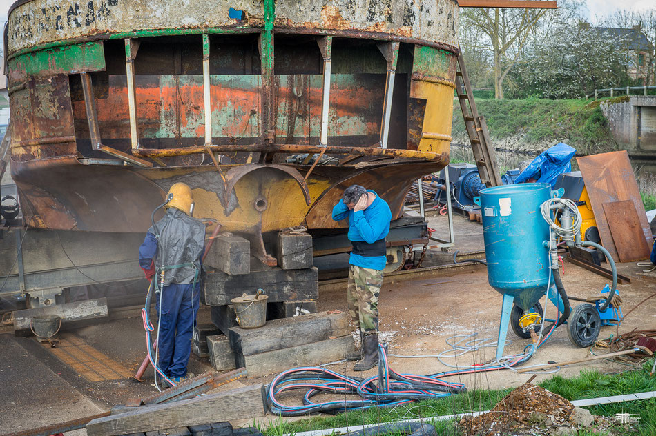
[[[211,306],[218,332],[198,330],[195,350],[201,356],[206,350],[216,370],[244,367],[249,377],[260,377],[340,360],[353,346],[346,313],[316,313],[319,284],[311,235],[305,229],[282,230],[271,241],[271,252],[278,266],[262,263],[251,255],[247,239],[232,234],[216,235],[208,251],[201,301]],[[231,299],[258,289],[268,296],[267,324],[242,329]]]

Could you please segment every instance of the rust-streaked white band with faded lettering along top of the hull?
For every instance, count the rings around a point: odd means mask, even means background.
[[[139,30],[262,27],[264,3],[189,0],[32,0],[10,10],[8,54],[33,46],[97,37],[139,36]],[[230,19],[228,9],[244,11]],[[322,0],[276,2],[276,27],[357,30],[457,46],[458,5],[452,0]],[[184,28],[184,29],[183,29]],[[146,36],[146,35],[144,35]]]

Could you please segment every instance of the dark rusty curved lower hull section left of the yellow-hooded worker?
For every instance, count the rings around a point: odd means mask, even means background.
[[[38,228],[145,232],[147,211],[166,193],[128,168],[81,165],[75,157],[12,161],[11,169],[26,222]]]

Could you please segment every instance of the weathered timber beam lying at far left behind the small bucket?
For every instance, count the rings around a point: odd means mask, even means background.
[[[39,307],[33,309],[17,310],[14,312],[14,330],[29,330],[33,317],[44,315],[57,315],[61,317],[62,324],[85,319],[102,318],[108,315],[107,299],[99,298],[74,303],[56,304],[55,306]]]

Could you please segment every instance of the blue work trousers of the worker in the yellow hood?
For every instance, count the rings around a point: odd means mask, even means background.
[[[200,306],[200,283],[164,286],[160,295],[155,295],[155,309],[160,313],[162,301],[162,318],[160,335],[157,337],[160,369],[169,378],[184,377],[189,364],[191,339],[196,313]]]

